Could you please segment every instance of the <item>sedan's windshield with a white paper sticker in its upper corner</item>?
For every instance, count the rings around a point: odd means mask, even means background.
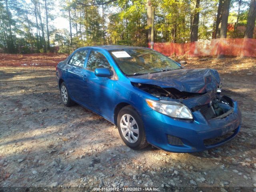
[[[181,69],[170,58],[150,49],[121,49],[109,51],[126,75],[142,75]]]

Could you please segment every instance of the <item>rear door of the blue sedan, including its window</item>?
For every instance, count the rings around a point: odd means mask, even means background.
[[[82,92],[86,86],[84,81],[86,79],[84,63],[88,50],[79,50],[73,54],[68,62],[68,67],[66,68],[68,74],[68,88],[75,101],[82,101]]]

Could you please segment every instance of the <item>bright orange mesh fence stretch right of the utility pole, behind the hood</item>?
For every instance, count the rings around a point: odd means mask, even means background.
[[[150,47],[150,44],[148,44]],[[213,39],[192,43],[154,43],[154,50],[166,56],[246,56],[256,57],[256,39]]]

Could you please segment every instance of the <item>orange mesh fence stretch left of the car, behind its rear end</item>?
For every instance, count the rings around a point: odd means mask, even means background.
[[[33,54],[3,54],[0,53],[1,66],[56,66],[67,58],[68,54],[33,53]]]

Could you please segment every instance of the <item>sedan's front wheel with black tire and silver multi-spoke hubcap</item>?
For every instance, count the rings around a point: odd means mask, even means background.
[[[132,106],[125,106],[120,110],[117,125],[119,134],[128,147],[142,149],[148,146],[143,121]]]

